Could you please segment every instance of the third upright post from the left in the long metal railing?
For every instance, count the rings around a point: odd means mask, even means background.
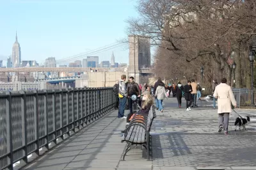
[[[38,115],[38,93],[33,89],[34,97],[34,123],[35,123],[35,139],[36,139],[36,155],[39,156],[39,115]]]

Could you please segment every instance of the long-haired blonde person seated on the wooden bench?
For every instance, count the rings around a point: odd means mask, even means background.
[[[152,97],[152,95],[150,95],[149,91],[144,91],[142,96],[143,97],[141,100],[141,110],[140,112],[134,113],[129,119],[129,122],[132,120],[133,116],[135,116],[136,114],[148,114],[148,112],[150,111],[150,107],[154,104],[154,98]],[[125,126],[125,128],[127,128],[128,125],[129,123]],[[122,130],[121,132],[124,133],[124,130]]]

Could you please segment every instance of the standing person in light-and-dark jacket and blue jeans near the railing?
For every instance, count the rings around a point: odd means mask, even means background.
[[[124,116],[124,109],[125,109],[125,103],[127,98],[127,89],[125,86],[125,79],[126,75],[121,76],[121,80],[119,82],[119,91],[118,91],[118,97],[119,97],[119,108],[118,108],[118,118],[126,119]]]

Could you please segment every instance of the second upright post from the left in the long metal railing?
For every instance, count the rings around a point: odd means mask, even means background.
[[[27,114],[26,114],[26,92],[21,89],[20,94],[21,97],[21,127],[22,127],[22,146],[24,146],[22,150],[22,156],[24,156],[23,160],[27,164],[28,163],[28,140],[27,140]]]

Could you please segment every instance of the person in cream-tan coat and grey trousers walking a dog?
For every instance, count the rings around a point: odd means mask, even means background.
[[[227,84],[226,78],[221,79],[221,84],[216,86],[213,96],[218,98],[219,132],[224,127],[224,132],[227,135],[229,113],[232,111],[231,103],[236,107],[236,99],[232,88]]]

